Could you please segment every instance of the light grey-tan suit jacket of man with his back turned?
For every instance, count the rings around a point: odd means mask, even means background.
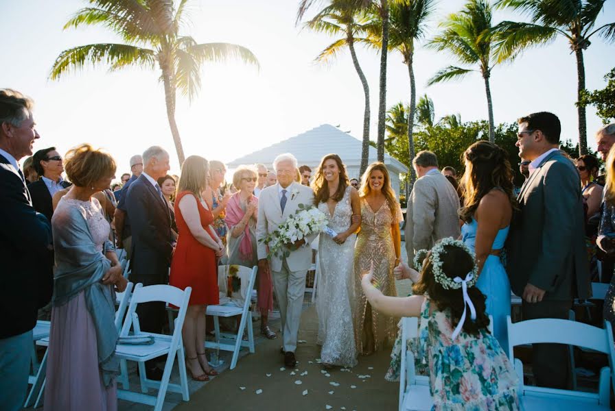
[[[412,263],[415,253],[431,249],[446,237],[459,238],[459,195],[441,173],[417,179],[406,210],[406,251]]]

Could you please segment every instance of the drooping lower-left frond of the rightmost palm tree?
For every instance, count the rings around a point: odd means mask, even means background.
[[[553,27],[502,21],[494,27],[496,61],[513,60],[523,49],[544,45],[555,40],[556,35]]]

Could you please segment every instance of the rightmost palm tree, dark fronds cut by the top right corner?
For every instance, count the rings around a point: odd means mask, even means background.
[[[585,91],[583,50],[590,47],[590,38],[598,34],[607,42],[615,41],[615,23],[594,29],[596,18],[606,0],[499,0],[498,8],[519,10],[533,23],[503,21],[497,27],[502,39],[498,44],[500,60],[514,58],[526,47],[544,45],[558,35],[564,36],[577,58],[577,114],[579,116],[579,155],[588,153],[585,105],[581,102]]]

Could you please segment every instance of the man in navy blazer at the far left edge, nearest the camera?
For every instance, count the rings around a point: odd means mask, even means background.
[[[51,224],[32,207],[17,164],[40,138],[32,105],[20,92],[0,89],[0,399],[8,411],[23,406],[36,313],[53,291],[51,266],[40,264],[51,247]]]

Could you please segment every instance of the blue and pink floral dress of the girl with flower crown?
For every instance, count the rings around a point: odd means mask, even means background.
[[[498,340],[480,329],[479,336],[462,330],[453,342],[450,312],[430,314],[425,297],[419,338],[411,346],[417,360],[429,366],[434,410],[519,410],[518,378]]]

